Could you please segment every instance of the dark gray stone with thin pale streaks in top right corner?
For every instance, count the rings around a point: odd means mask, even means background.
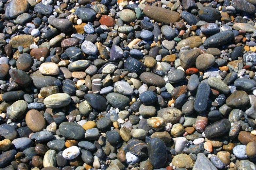
[[[232,0],[232,5],[234,8],[247,12],[249,14],[255,13],[255,6],[245,0]]]

